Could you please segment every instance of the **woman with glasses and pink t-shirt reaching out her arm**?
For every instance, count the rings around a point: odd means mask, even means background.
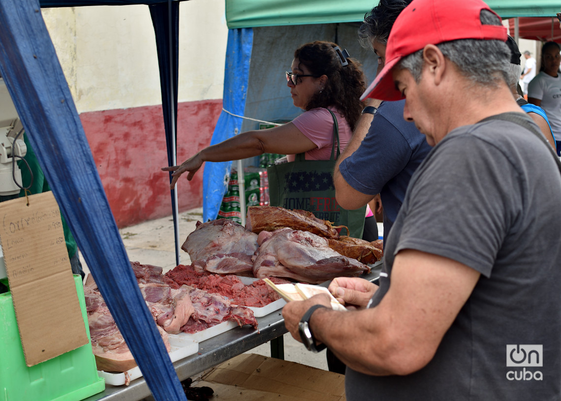
[[[287,86],[293,104],[304,113],[278,127],[240,133],[199,151],[181,165],[162,168],[173,171],[171,188],[183,173],[191,181],[204,162],[227,162],[263,153],[285,154],[288,162],[298,153],[305,153],[306,160],[329,160],[333,147],[329,110],[337,118],[343,151],[364,107],[359,99],[366,87],[360,63],[348,58],[337,44],[316,41],[296,49],[291,70],[286,72]],[[377,231],[374,239],[378,239]]]

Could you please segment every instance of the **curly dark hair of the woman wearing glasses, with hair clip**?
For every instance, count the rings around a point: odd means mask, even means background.
[[[360,96],[366,89],[366,79],[361,64],[356,59],[347,58],[348,65],[342,65],[335,47],[335,43],[316,40],[301,45],[294,52],[294,58],[306,66],[312,75],[327,75],[323,90],[312,96],[306,105],[306,111],[334,106],[347,120],[351,130],[355,130],[364,107]]]

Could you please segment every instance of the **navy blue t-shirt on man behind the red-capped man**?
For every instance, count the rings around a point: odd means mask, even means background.
[[[360,147],[339,171],[348,185],[365,195],[380,194],[384,240],[405,197],[411,176],[432,149],[412,122],[403,119],[405,100],[382,102]]]

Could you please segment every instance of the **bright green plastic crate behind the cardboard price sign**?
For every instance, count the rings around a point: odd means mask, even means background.
[[[80,275],[74,275],[74,280],[86,333],[90,338]],[[7,279],[2,282],[8,285]],[[27,367],[12,294],[0,294],[0,401],[79,401],[104,389],[105,380],[98,376],[91,340],[73,351]]]

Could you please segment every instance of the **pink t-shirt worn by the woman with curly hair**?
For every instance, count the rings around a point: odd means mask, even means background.
[[[330,110],[335,114],[337,123],[339,125],[339,141],[341,145],[341,152],[345,149],[348,142],[351,140],[352,131],[348,125],[347,120],[344,119],[337,109],[330,107]],[[318,149],[312,149],[306,152],[306,160],[329,160],[331,156],[331,148],[333,143],[333,117],[327,109],[321,107],[308,110],[300,114],[292,120],[292,123],[302,132],[306,137],[314,142]],[[335,157],[337,157],[337,149],[335,149]],[[287,161],[293,162],[295,155],[287,155]]]

